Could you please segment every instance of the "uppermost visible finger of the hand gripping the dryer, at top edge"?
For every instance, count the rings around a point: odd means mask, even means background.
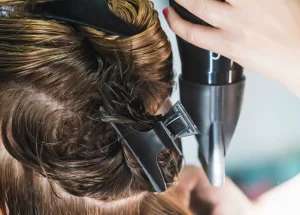
[[[231,6],[217,0],[176,0],[188,11],[209,23],[220,28],[230,17]]]

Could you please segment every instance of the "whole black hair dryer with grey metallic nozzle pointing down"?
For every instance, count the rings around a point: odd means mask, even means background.
[[[170,0],[185,20],[208,25]],[[198,48],[177,37],[182,74],[180,99],[198,127],[199,159],[213,186],[225,184],[225,156],[243,102],[243,68],[219,54]]]

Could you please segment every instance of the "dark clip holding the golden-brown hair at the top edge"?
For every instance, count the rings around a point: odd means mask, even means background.
[[[50,1],[43,3],[41,10],[46,19],[84,25],[112,35],[130,37],[137,33],[109,9],[107,0]]]

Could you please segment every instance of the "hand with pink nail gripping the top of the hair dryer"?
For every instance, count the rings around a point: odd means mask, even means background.
[[[224,55],[300,96],[299,0],[176,0],[213,27],[164,10],[170,28],[188,42]]]

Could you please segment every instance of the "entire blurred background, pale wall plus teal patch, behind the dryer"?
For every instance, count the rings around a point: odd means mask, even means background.
[[[176,38],[162,15],[168,0],[153,2],[172,43],[178,76],[181,63]],[[255,198],[300,173],[300,99],[275,82],[250,71],[245,74],[244,104],[226,157],[226,173]],[[179,100],[178,86],[172,100]],[[183,149],[186,163],[200,165],[194,137],[183,140]]]

